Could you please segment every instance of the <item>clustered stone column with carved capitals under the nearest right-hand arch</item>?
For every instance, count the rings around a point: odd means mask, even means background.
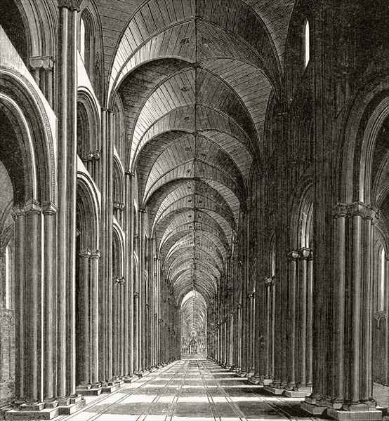
[[[360,202],[339,203],[334,210],[332,361],[328,367],[314,366],[314,391],[302,404],[310,413],[327,410],[327,415],[338,420],[382,418],[371,399],[371,222],[375,213]],[[325,385],[329,389],[315,383],[321,374],[315,370],[324,375],[331,370],[332,382]]]

